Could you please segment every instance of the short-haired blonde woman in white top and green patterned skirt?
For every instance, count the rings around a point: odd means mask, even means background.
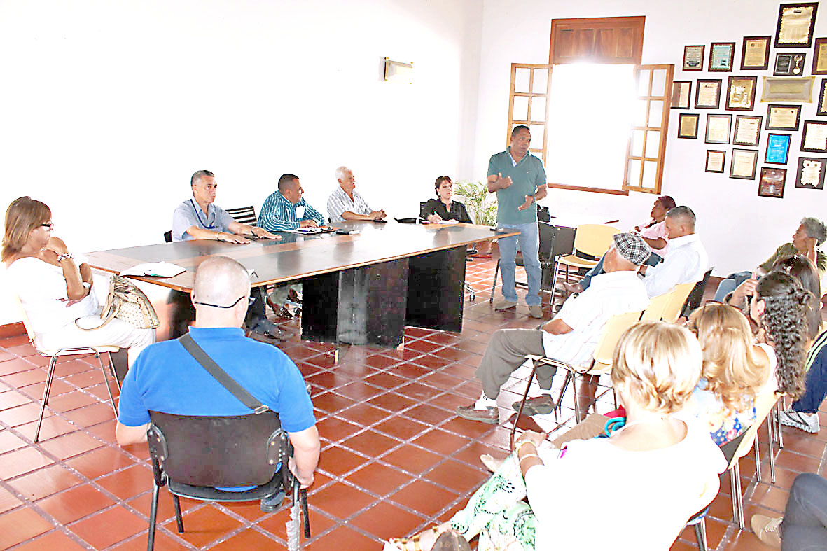
[[[634,325],[620,337],[611,374],[627,411],[623,429],[562,451],[538,449],[543,434],[523,433],[465,509],[411,539],[391,540],[385,551],[428,551],[447,529],[479,535],[480,551],[669,549],[726,468],[709,432],[673,415],[690,399],[700,367],[700,346],[686,328]],[[624,507],[595,509],[595,496]]]

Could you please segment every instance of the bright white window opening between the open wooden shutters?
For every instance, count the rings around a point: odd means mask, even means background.
[[[548,181],[620,189],[633,112],[633,77],[633,65],[555,65],[548,95]],[[534,146],[537,140],[532,129]]]

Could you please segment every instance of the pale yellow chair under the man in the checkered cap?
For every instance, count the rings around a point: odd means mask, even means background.
[[[587,366],[571,366],[566,362],[555,360],[552,357],[535,356],[533,354],[528,354],[525,357],[527,360],[531,360],[533,369],[531,370],[531,375],[528,376],[528,384],[525,386],[523,401],[519,406],[517,418],[514,419],[514,427],[511,428],[512,448],[514,448],[514,431],[517,429],[517,422],[519,421],[520,415],[523,414],[523,406],[525,405],[525,400],[528,397],[528,389],[531,386],[531,382],[534,378],[534,372],[537,371],[538,366],[544,364],[547,366],[562,367],[566,370],[566,379],[563,381],[562,389],[560,389],[560,395],[557,396],[555,410],[560,410],[560,404],[562,402],[563,395],[566,393],[566,387],[571,382],[571,386],[574,388],[575,414],[576,418],[580,419],[580,406],[577,404],[577,381],[575,381],[576,374],[604,375],[605,373],[609,373],[612,369],[614,347],[617,346],[621,333],[632,327],[635,323],[638,323],[641,314],[643,314],[643,311],[638,310],[635,312],[627,312],[626,314],[617,314],[609,318],[609,321],[606,322],[605,327],[603,328],[603,333],[600,333],[600,339],[597,341],[597,346],[595,347],[594,354],[592,354],[591,362],[589,362],[589,365]]]

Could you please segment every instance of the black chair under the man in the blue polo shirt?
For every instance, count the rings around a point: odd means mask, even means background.
[[[179,497],[202,501],[255,501],[293,494],[294,477],[287,468],[292,448],[273,411],[227,417],[200,417],[150,412],[146,431],[152,472],[150,528],[146,549],[155,545],[158,491],[167,485],[175,506],[175,522],[184,532]],[[256,485],[246,491],[218,487]],[[310,537],[307,498],[301,493],[304,536]]]

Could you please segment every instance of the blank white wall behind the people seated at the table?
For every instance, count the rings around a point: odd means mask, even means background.
[[[189,175],[256,212],[294,172],[324,211],[338,165],[410,216],[471,170],[477,0],[4,0],[0,205],[49,204],[75,251],[160,242]],[[382,81],[383,58],[414,84]],[[17,319],[0,293],[0,323]]]

